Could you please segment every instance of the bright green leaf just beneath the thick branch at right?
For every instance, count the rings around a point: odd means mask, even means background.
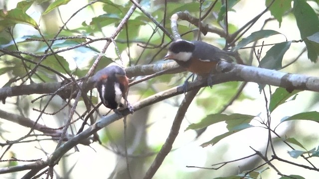
[[[269,111],[273,112],[279,105],[285,103],[289,97],[295,95],[300,91],[301,90],[293,90],[292,92],[288,92],[284,88],[277,88],[276,91],[270,97]]]

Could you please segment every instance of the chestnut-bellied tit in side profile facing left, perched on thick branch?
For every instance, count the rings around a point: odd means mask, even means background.
[[[232,62],[228,56],[232,53],[202,41],[179,39],[170,44],[164,60],[172,59],[189,72],[207,76],[214,72],[218,61]]]

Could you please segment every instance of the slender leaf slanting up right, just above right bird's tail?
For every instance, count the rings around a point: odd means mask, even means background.
[[[281,33],[275,30],[259,30],[259,31],[253,32],[248,37],[243,38],[241,41],[239,41],[238,44],[233,49],[231,49],[231,51],[234,52],[240,48],[245,47],[251,42],[255,42],[259,39],[267,38],[269,36],[277,35],[277,34],[281,34]]]

